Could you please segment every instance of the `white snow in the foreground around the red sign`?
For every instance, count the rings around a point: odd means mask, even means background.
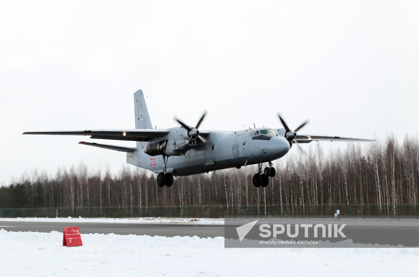
[[[2,276],[417,276],[419,249],[228,249],[224,238],[0,230]]]

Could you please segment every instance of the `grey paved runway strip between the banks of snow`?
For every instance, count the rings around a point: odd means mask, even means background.
[[[149,236],[199,236],[214,238],[225,236],[224,225],[189,224],[189,223],[65,223],[65,222],[25,222],[0,221],[0,229],[8,231],[62,232],[63,227],[80,226],[81,233],[114,233],[119,235],[149,235]],[[236,227],[236,226],[233,226]],[[235,228],[229,228],[227,238],[237,238]],[[258,228],[252,232],[259,232]],[[251,232],[251,233],[252,233]],[[303,237],[303,231],[297,239],[309,240]],[[250,234],[250,233],[249,233]],[[377,225],[347,225],[345,235],[354,243],[378,243],[403,246],[419,246],[419,226],[377,226]],[[278,236],[278,238],[281,238]],[[286,238],[284,238],[286,239]],[[330,239],[340,241],[345,238]]]

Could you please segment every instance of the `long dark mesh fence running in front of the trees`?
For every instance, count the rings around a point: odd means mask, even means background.
[[[223,218],[254,215],[280,218],[341,218],[418,220],[418,205],[197,205],[141,207],[58,207],[0,209],[0,217],[172,217]]]

